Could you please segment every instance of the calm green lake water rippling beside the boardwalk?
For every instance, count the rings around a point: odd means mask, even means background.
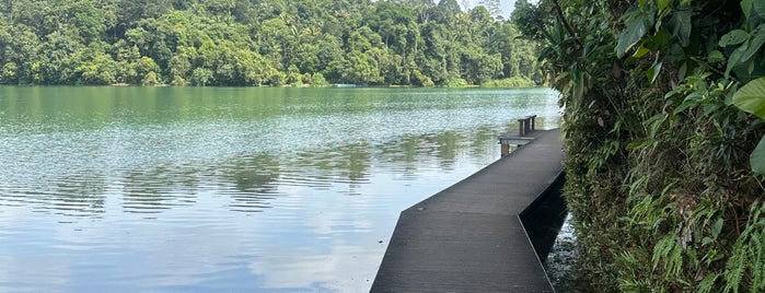
[[[549,90],[0,87],[0,292],[362,292]]]

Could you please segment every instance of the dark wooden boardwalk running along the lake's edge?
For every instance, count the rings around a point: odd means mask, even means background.
[[[554,292],[519,219],[561,174],[558,130],[403,211],[371,292]]]

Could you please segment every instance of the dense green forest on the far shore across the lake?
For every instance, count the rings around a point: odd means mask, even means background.
[[[455,0],[7,0],[0,83],[541,82],[533,43],[498,19]]]

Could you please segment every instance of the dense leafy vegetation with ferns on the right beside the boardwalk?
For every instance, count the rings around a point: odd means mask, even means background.
[[[563,93],[592,290],[765,291],[765,2],[519,5]]]

